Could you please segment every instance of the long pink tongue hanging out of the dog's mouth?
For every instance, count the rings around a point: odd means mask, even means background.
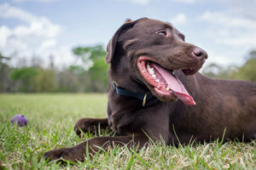
[[[160,72],[160,75],[166,80],[168,87],[171,88],[172,92],[177,96],[178,99],[182,100],[186,105],[195,105],[194,99],[189,95],[183,83],[174,77],[169,71],[161,67],[160,65],[152,66]]]

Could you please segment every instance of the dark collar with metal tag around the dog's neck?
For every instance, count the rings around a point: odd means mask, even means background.
[[[143,107],[148,105],[153,105],[155,101],[158,99],[151,93],[149,94],[140,94],[140,93],[133,93],[130,90],[126,90],[125,88],[119,88],[116,82],[112,82],[113,88],[116,90],[116,93],[119,95],[137,98],[143,101]]]

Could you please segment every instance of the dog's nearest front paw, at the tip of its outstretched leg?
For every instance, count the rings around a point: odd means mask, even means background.
[[[44,159],[47,161],[84,161],[84,154],[75,148],[61,148],[44,152]]]

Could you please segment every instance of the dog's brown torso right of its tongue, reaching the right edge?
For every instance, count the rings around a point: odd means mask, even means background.
[[[192,136],[207,141],[223,135],[224,139],[240,141],[256,138],[256,83],[209,78],[200,73],[179,75],[196,102],[194,106],[171,104],[176,108],[171,123],[185,143]]]

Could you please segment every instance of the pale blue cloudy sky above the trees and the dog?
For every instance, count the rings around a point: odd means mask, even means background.
[[[207,64],[241,65],[256,48],[256,0],[1,0],[0,52],[19,65],[32,56],[73,63],[72,48],[102,44],[128,18],[171,22],[204,48]]]

